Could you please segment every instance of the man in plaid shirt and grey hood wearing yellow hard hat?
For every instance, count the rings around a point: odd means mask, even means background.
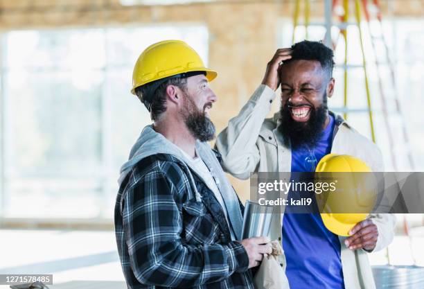
[[[267,237],[240,240],[242,205],[206,143],[216,74],[177,40],[152,44],[135,64],[132,94],[153,124],[123,164],[116,198],[128,288],[253,288],[249,268],[272,252]]]

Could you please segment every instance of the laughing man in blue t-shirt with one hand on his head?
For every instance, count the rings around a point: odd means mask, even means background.
[[[373,172],[381,172],[378,147],[328,111],[335,87],[333,66],[333,51],[320,42],[277,50],[262,84],[218,135],[216,148],[224,169],[240,179],[258,172],[314,172],[319,161],[333,153],[360,159]],[[280,111],[265,119],[278,87]],[[348,238],[330,231],[330,222],[323,218],[319,213],[287,213],[273,219],[270,234],[283,245],[286,287],[375,288],[366,254],[389,245],[394,216],[370,214],[351,227]]]

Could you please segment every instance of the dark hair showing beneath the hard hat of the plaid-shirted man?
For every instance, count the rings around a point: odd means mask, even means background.
[[[150,111],[152,121],[157,121],[159,116],[166,112],[166,87],[168,87],[168,85],[175,85],[182,89],[182,91],[187,91],[187,78],[169,78],[165,82],[161,83],[157,89],[152,91],[152,87],[155,87],[156,85],[156,81],[153,81],[134,89],[134,92],[141,103],[143,103]],[[148,94],[153,94],[151,97],[146,97],[151,99],[151,102],[143,98],[143,95],[147,96]]]

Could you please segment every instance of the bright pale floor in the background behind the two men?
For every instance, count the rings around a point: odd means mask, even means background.
[[[412,238],[417,265],[424,265],[422,234]],[[0,274],[53,274],[55,289],[125,287],[114,231],[0,230]],[[394,265],[413,263],[409,239],[396,236],[389,247]],[[369,255],[387,263],[385,250]],[[9,288],[0,286],[1,289]]]

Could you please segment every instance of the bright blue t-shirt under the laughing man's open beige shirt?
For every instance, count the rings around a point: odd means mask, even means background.
[[[330,116],[330,122],[315,148],[292,150],[292,172],[315,170],[311,159],[318,163],[330,153],[333,131],[334,118]],[[295,198],[291,194],[289,192],[288,198]],[[283,249],[287,261],[285,274],[291,289],[344,288],[339,238],[328,231],[319,213],[286,212],[283,217]]]

